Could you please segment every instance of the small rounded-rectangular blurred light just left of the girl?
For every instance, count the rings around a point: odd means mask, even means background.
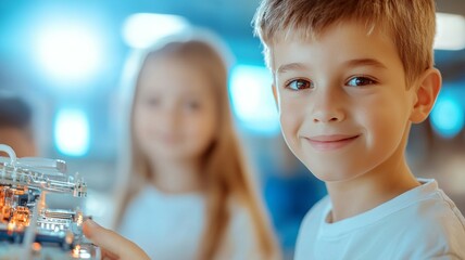
[[[54,143],[60,153],[83,156],[89,151],[89,120],[80,109],[61,109],[54,121]]]

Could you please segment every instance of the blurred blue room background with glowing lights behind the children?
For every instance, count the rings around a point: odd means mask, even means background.
[[[444,84],[430,119],[412,130],[407,155],[414,172],[436,178],[465,212],[465,18],[457,16],[465,15],[465,4],[437,3],[438,11],[455,14],[443,15],[435,54]],[[64,159],[71,172],[80,172],[89,184],[87,211],[110,223],[118,172],[116,106],[131,50],[187,25],[213,30],[231,50],[238,130],[291,258],[300,221],[326,191],[280,135],[271,75],[252,32],[257,5],[257,0],[2,1],[0,89],[32,104],[40,155]]]

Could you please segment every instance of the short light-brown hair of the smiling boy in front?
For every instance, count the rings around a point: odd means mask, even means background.
[[[315,39],[345,21],[363,23],[367,34],[380,27],[394,42],[410,84],[433,64],[435,12],[433,0],[263,0],[254,27],[272,69],[273,44],[290,35]]]

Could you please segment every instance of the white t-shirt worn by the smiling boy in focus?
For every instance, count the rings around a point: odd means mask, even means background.
[[[300,227],[296,260],[465,259],[465,219],[435,180],[335,223],[323,198]]]

